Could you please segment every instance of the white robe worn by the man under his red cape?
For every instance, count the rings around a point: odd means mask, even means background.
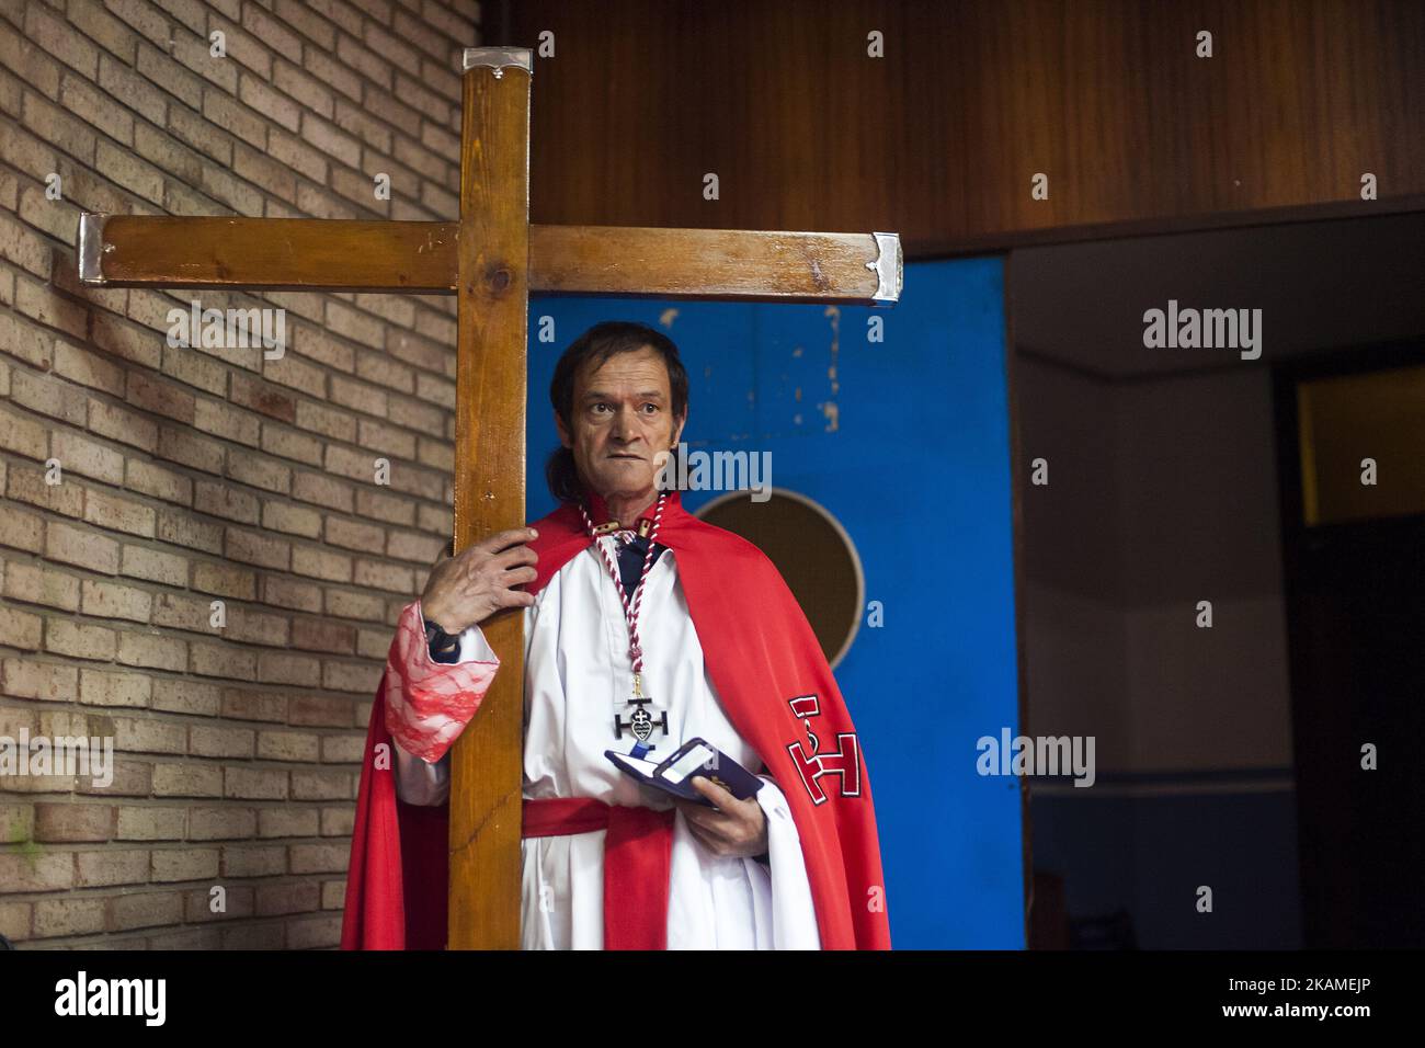
[[[614,539],[600,539],[613,543]],[[614,546],[608,546],[613,553]],[[750,609],[751,612],[752,609]],[[748,770],[761,757],[732,729],[703,662],[673,550],[664,550],[644,583],[638,616],[643,690],[654,720],[665,710],[668,734],[654,729],[653,759],[701,736]],[[460,636],[460,660],[493,660],[479,627]],[[628,629],[603,559],[593,549],[571,558],[524,609],[526,800],[597,797],[608,804],[668,808],[673,801],[618,771],[606,749],[616,740],[614,713],[633,693]],[[428,764],[396,747],[398,793],[409,803],[439,804],[449,793],[445,763]],[[754,858],[714,856],[674,820],[668,883],[670,950],[817,950],[817,915],[797,824],[768,776],[757,793],[767,816],[770,868]],[[522,947],[600,950],[604,940],[606,830],[522,841]]]

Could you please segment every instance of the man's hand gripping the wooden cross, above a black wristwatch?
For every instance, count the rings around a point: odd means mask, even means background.
[[[514,528],[467,546],[460,556],[443,556],[430,569],[420,613],[455,635],[504,607],[533,605],[533,593],[514,587],[537,575],[539,555],[524,545],[536,535],[533,528]]]

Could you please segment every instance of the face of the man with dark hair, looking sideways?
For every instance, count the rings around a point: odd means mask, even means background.
[[[685,419],[674,418],[668,368],[648,346],[586,362],[574,378],[571,425],[554,413],[579,476],[606,500],[651,498],[657,456],[677,445]]]

